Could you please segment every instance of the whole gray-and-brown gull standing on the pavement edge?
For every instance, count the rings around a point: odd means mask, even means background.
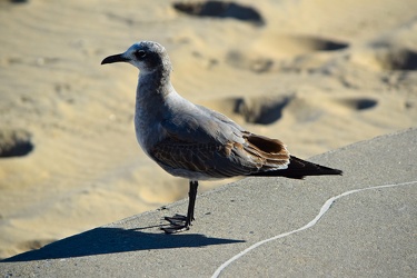
[[[137,42],[101,64],[113,62],[139,69],[135,129],[140,147],[163,170],[189,180],[187,216],[165,217],[170,225],[161,229],[167,234],[190,228],[199,180],[342,173],[291,156],[280,140],[247,131],[228,117],[182,98],[170,81],[168,52],[158,42]]]

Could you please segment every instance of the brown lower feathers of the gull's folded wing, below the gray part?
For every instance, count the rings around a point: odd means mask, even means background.
[[[205,172],[214,178],[246,176],[258,171],[286,169],[289,153],[281,141],[245,133],[245,143],[183,142],[167,138],[150,155],[160,165]]]

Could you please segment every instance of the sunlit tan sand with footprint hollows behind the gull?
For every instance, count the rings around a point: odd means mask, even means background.
[[[416,126],[416,1],[178,2],[0,1],[0,258],[186,197],[136,142],[137,70],[100,66],[135,41],[167,48],[183,97],[298,157]]]

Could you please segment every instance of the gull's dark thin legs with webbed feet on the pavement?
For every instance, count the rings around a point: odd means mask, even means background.
[[[196,197],[197,197],[197,188],[198,188],[198,181],[197,180],[190,180],[190,190],[188,192],[188,211],[187,217],[181,215],[175,215],[173,217],[165,217],[167,221],[171,224],[168,228],[161,228],[167,234],[175,234],[188,230],[191,226],[193,218],[193,209],[196,206]]]

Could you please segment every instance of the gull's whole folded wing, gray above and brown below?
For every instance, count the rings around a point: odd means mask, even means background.
[[[167,136],[150,155],[166,168],[226,178],[286,169],[289,163],[282,142],[244,131],[207,108],[162,121],[161,127]]]

